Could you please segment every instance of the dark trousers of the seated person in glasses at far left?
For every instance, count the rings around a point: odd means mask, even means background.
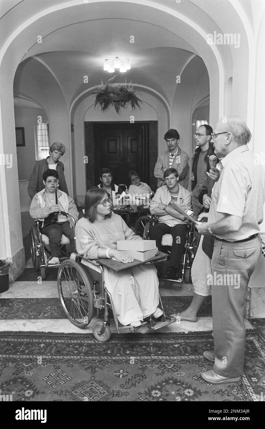
[[[51,256],[59,257],[60,251],[59,247],[61,244],[61,238],[64,234],[68,237],[70,241],[70,251],[71,253],[76,252],[75,243],[74,243],[74,228],[70,228],[70,224],[68,221],[63,222],[63,224],[51,224],[48,227],[42,228],[42,234],[49,239],[49,246],[51,248]]]

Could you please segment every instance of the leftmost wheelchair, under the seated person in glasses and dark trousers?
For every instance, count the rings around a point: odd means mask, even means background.
[[[42,280],[46,280],[48,267],[58,268],[60,264],[48,265],[48,260],[51,256],[51,252],[47,248],[49,245],[49,239],[45,234],[41,233],[40,224],[41,221],[35,220],[30,229],[30,252],[33,267],[37,272],[40,272]],[[65,256],[63,258],[59,258],[60,260],[69,258],[69,254],[65,251],[65,246],[69,243],[69,239],[63,235],[59,250]]]

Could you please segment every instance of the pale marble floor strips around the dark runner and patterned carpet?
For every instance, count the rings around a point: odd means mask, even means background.
[[[27,272],[30,273],[29,277],[32,279],[34,276],[35,280],[27,280],[27,276],[20,276],[23,278],[23,281],[15,281],[12,284],[9,284],[9,290],[6,292],[0,293],[0,308],[1,301],[2,303],[11,300],[10,304],[12,305],[12,300],[20,299],[23,307],[23,302],[27,305],[29,300],[33,299],[43,299],[42,305],[45,306],[45,299],[47,303],[50,299],[58,298],[57,291],[57,281],[54,279],[47,279],[46,281],[41,281],[38,279],[39,273],[34,272],[32,267],[31,259],[27,260]],[[55,272],[52,273],[52,278],[55,276]],[[41,281],[41,283],[40,283]],[[181,311],[187,305],[187,300],[190,302],[191,297],[193,296],[194,289],[192,284],[179,284],[170,281],[160,281],[160,294],[162,302],[166,300],[167,297],[178,297],[179,308],[178,311]],[[23,301],[24,300],[24,301]],[[58,305],[60,302],[58,300]],[[199,331],[211,331],[212,330],[212,317],[211,317],[211,306],[208,305],[205,307],[205,310],[202,312],[202,317],[198,317],[198,321],[188,322],[188,321],[177,321],[170,325],[167,325],[164,328],[161,328],[159,332],[199,332]],[[178,312],[167,315],[175,315]],[[198,314],[199,316],[199,314]],[[93,323],[95,320],[89,323],[86,328],[82,329],[83,332],[92,332]],[[249,320],[245,320],[247,329],[257,328],[257,323],[254,325]],[[115,332],[115,324],[113,320],[111,321],[111,330]],[[262,326],[265,329],[265,326]],[[36,331],[36,332],[66,332],[74,333],[81,332],[80,328],[74,326],[66,317],[65,318],[45,318],[43,319],[41,315],[36,318],[21,318],[18,313],[14,318],[2,318],[0,315],[0,331]],[[140,328],[140,332],[156,332],[150,331],[146,325]],[[121,334],[122,335],[122,334]]]

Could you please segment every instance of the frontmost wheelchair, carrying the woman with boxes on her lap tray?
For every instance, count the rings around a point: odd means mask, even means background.
[[[166,260],[166,255],[162,254],[159,261]],[[104,270],[101,260],[88,260],[97,266],[99,271],[82,263],[82,257],[71,254],[70,259],[64,260],[59,267],[57,275],[57,287],[60,302],[67,318],[75,326],[84,328],[92,319],[95,322],[92,327],[94,337],[100,342],[110,339],[110,318],[109,311],[112,310],[116,326],[116,332],[134,332],[147,324],[149,329],[160,329],[170,323],[176,322],[175,317],[166,316],[159,294],[159,303],[163,311],[161,320],[152,318],[152,315],[144,321],[141,326],[123,326],[119,323],[115,311],[113,310],[113,300],[104,283]],[[146,261],[151,264],[154,261]],[[96,315],[93,316],[94,308]],[[102,314],[103,312],[103,320]]]

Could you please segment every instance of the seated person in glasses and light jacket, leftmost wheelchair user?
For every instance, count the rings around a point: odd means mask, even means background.
[[[70,251],[75,252],[74,229],[72,221],[60,212],[64,211],[71,215],[75,221],[78,219],[78,211],[74,200],[65,192],[57,189],[58,173],[56,170],[48,169],[42,175],[45,189],[36,193],[30,205],[30,216],[42,221],[41,233],[49,238],[51,248],[51,259],[49,265],[60,263],[60,242],[62,235],[70,241]]]

